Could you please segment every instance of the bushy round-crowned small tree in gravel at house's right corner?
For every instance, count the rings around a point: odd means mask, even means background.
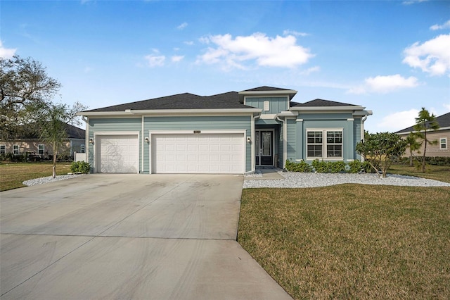
[[[406,141],[390,132],[371,134],[366,132],[364,141],[356,144],[356,152],[361,154],[376,173],[385,178],[392,165],[392,159],[405,153]]]

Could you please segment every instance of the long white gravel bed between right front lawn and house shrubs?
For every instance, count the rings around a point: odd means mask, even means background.
[[[404,175],[387,175],[380,178],[375,174],[330,174],[330,173],[295,173],[278,172],[285,179],[281,180],[244,180],[243,188],[258,187],[326,187],[344,183],[362,185],[402,185],[410,187],[450,187],[450,183]]]

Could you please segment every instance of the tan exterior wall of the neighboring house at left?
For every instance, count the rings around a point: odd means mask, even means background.
[[[80,143],[84,144],[84,139],[79,140]],[[13,146],[19,146],[19,154],[24,154],[26,152],[38,154],[39,145],[44,145],[44,159],[49,158],[49,155],[53,155],[53,146],[48,142],[39,139],[21,139],[21,140],[10,140],[8,142],[0,142],[0,145],[5,145],[6,153],[13,153]],[[67,154],[69,156],[73,155],[73,151],[70,151],[70,141],[66,141],[63,146],[58,149],[59,154]]]

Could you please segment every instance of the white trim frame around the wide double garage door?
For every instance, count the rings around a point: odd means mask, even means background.
[[[200,133],[194,133],[194,131],[200,131]],[[247,137],[246,130],[148,130],[148,173],[153,174],[153,152],[152,143],[153,135],[213,135],[213,134],[240,134],[243,135],[243,173],[247,165]]]

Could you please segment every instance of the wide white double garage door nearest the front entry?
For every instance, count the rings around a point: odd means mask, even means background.
[[[244,158],[239,133],[152,136],[152,173],[243,174]]]

